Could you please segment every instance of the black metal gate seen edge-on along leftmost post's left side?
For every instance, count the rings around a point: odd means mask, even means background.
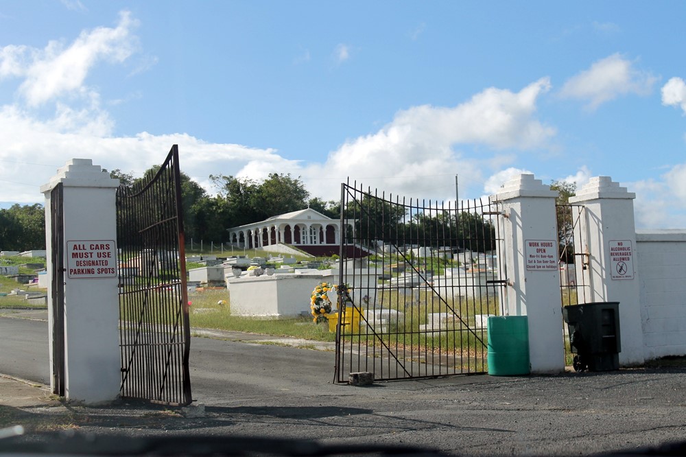
[[[64,190],[58,183],[50,192],[50,233],[52,261],[52,392],[64,397]]]

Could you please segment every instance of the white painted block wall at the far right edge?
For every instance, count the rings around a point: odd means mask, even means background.
[[[639,231],[645,358],[686,355],[686,231]]]

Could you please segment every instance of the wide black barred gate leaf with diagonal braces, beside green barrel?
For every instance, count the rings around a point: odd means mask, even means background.
[[[492,207],[342,185],[336,382],[487,371],[486,322],[507,282]]]

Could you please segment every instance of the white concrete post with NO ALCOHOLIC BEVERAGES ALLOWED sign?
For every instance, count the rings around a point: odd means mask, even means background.
[[[597,176],[569,199],[586,208],[587,228],[581,242],[589,252],[584,279],[591,286],[591,302],[619,302],[619,364],[623,366],[644,361],[634,198],[636,194],[610,177]]]

